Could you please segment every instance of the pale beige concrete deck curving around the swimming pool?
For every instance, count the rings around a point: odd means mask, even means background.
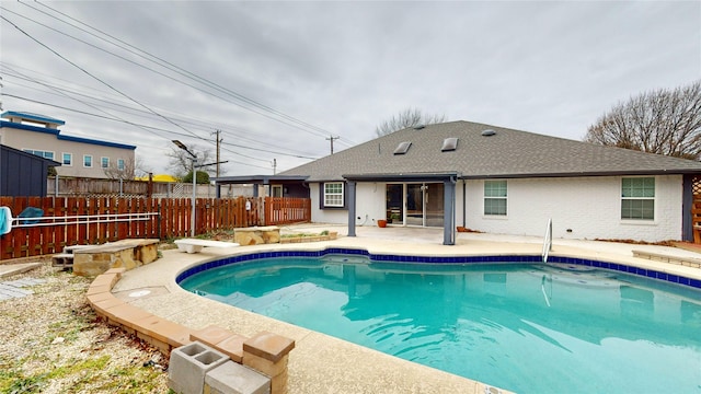
[[[443,229],[358,227],[348,237],[345,227],[306,224],[283,227],[281,233],[338,231],[335,241],[205,248],[198,254],[163,251],[158,260],[124,273],[112,293],[153,315],[192,329],[218,325],[254,336],[272,332],[296,341],[289,356],[289,393],[485,393],[484,384],[388,356],[342,339],[257,315],[189,293],[175,283],[179,273],[193,265],[234,254],[279,250],[364,248],[398,255],[524,255],[540,254],[542,237],[457,233],[456,245],[443,245]],[[633,265],[701,279],[701,269],[633,257],[632,251],[697,260],[701,254],[676,247],[611,242],[553,240],[552,255],[577,256]],[[504,371],[508,373],[508,371]],[[498,382],[489,382],[497,386]]]

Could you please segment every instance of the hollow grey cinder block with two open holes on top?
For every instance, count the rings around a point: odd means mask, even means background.
[[[207,372],[227,361],[227,355],[198,341],[173,349],[168,368],[169,387],[180,394],[202,394]]]

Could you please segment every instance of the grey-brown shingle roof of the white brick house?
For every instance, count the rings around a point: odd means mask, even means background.
[[[484,130],[494,130],[491,137]],[[446,138],[455,151],[441,151]],[[411,141],[405,154],[393,154]],[[409,128],[337,152],[280,175],[308,175],[309,182],[343,175],[458,173],[463,178],[635,174],[701,174],[701,163],[662,154],[604,147],[497,126],[451,121]]]

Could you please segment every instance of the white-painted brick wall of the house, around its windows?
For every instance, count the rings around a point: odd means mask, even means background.
[[[621,220],[621,177],[508,179],[508,215],[485,217],[484,182],[466,182],[463,224],[462,183],[456,185],[456,225],[495,234],[536,235],[545,233],[553,221],[553,237],[577,240],[681,240],[682,177],[655,177],[655,220]],[[356,223],[376,225],[384,218],[386,185],[357,185]],[[346,223],[347,210],[320,210],[319,185],[310,187],[312,221]],[[368,220],[366,221],[366,216]],[[571,230],[570,232],[567,230]]]

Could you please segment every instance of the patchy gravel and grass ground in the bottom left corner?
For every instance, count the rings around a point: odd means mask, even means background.
[[[91,279],[44,262],[0,281],[39,278],[34,294],[0,301],[0,393],[168,393],[168,359],[97,318]]]

